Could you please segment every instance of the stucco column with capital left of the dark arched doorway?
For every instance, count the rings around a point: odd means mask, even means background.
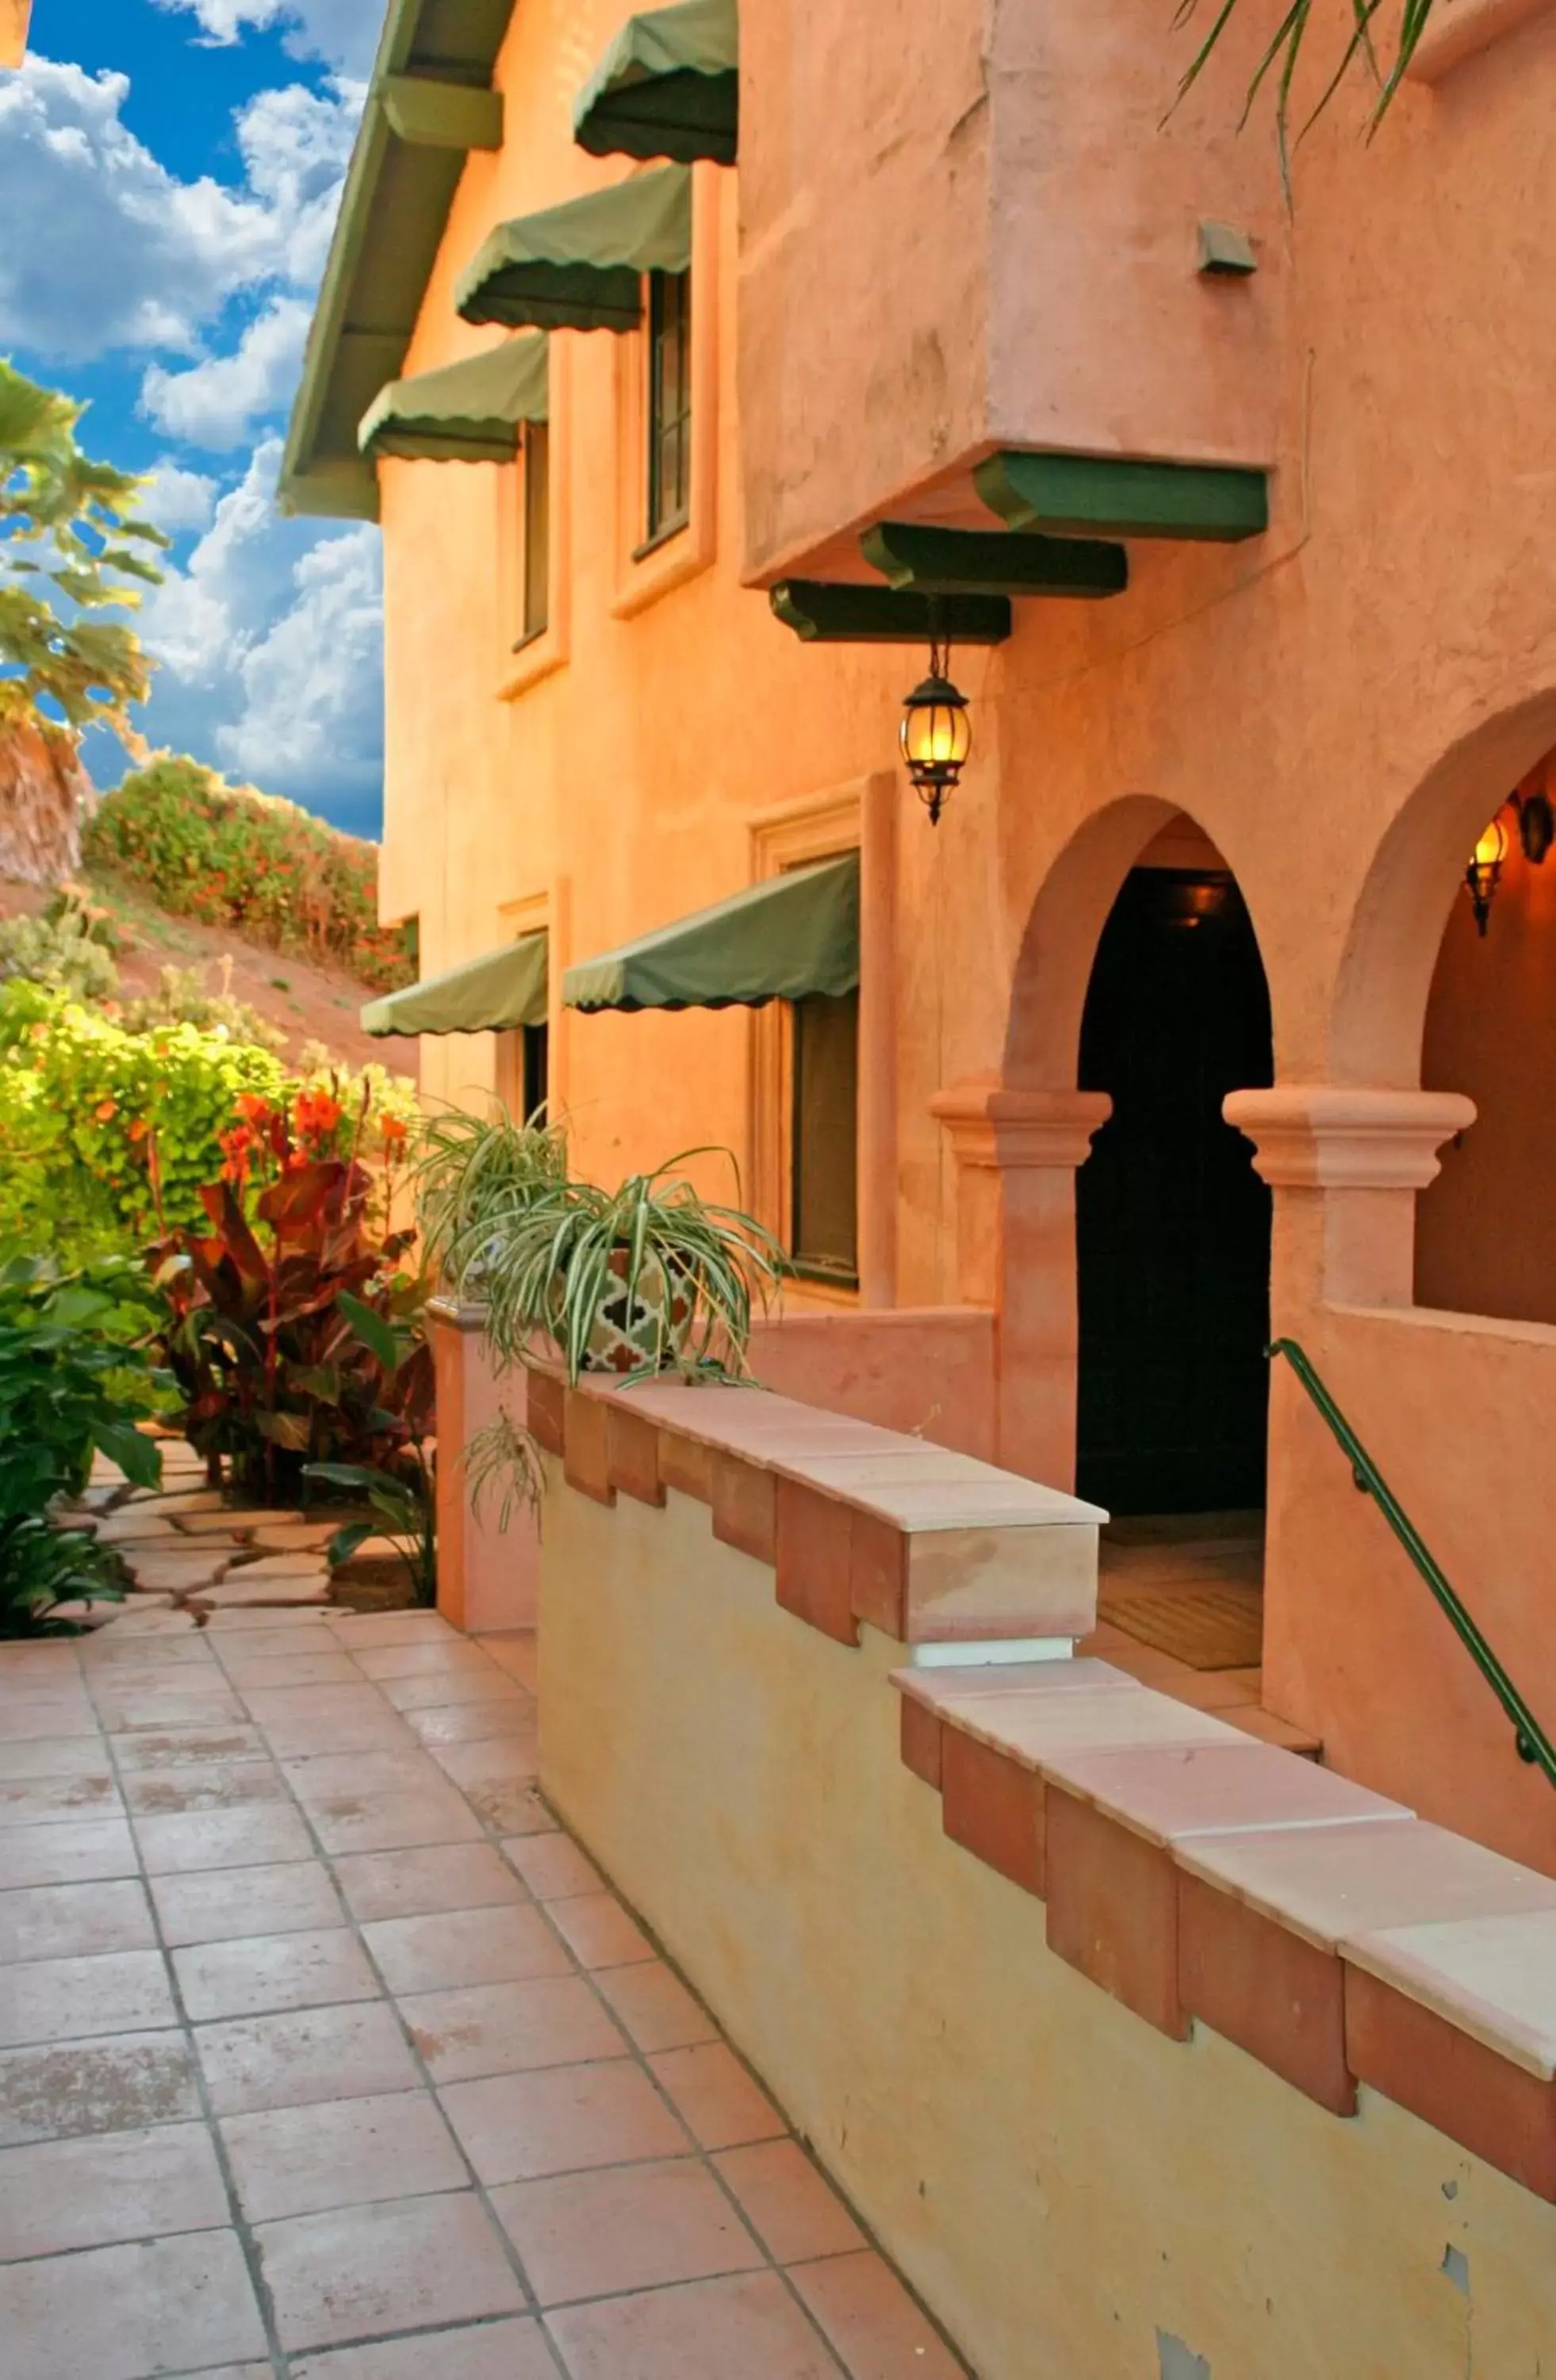
[[[956,1159],[956,1295],[997,1314],[1006,1471],[1075,1476],[1075,1169],[1113,1111],[1102,1090],[959,1083],[930,1102]]]

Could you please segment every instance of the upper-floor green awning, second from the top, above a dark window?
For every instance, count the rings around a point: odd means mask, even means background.
[[[642,274],[683,274],[690,262],[692,176],[683,164],[661,164],[497,224],[464,267],[454,305],[466,321],[635,331]]]

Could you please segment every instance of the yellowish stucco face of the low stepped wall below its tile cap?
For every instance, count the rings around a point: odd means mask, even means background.
[[[542,1785],[980,2380],[1549,2366],[1551,2206],[1094,1990],[902,1766],[902,1647],[780,1611],[702,1504],[552,1471]]]

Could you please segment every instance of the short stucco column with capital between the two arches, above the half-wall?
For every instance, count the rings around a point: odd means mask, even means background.
[[[1442,1142],[1475,1121],[1473,1100],[1278,1083],[1230,1092],[1223,1114],[1254,1142],[1254,1171],[1275,1190],[1275,1330],[1316,1304],[1416,1302],[1416,1192],[1437,1180]]]

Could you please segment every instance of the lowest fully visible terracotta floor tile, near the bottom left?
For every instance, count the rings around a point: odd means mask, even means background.
[[[523,2311],[473,2192],[297,2216],[257,2240],[288,2349]]]

